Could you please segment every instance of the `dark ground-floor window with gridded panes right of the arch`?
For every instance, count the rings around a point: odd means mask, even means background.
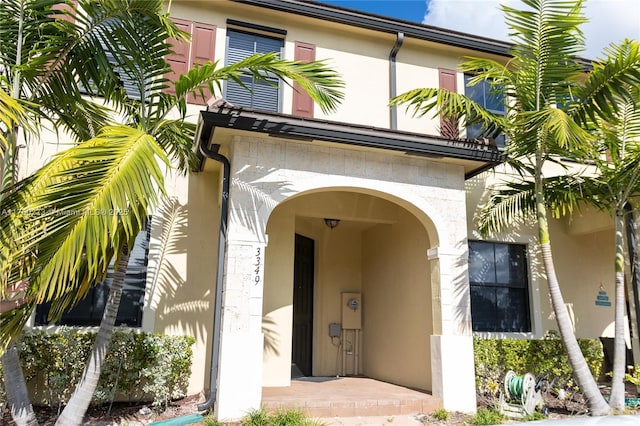
[[[526,246],[469,242],[473,331],[528,332]]]

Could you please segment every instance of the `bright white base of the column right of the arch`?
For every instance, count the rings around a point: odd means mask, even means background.
[[[476,412],[471,336],[431,336],[432,392],[449,411]]]

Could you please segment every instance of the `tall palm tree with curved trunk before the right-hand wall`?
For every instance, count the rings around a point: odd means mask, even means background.
[[[583,50],[580,25],[582,1],[523,0],[526,10],[502,6],[514,45],[507,64],[470,58],[460,69],[475,73],[470,84],[487,81],[505,95],[505,116],[485,110],[464,95],[444,89],[415,89],[395,98],[414,113],[434,111],[457,117],[465,125],[483,123],[486,135],[503,132],[508,140],[507,163],[533,181],[533,212],[538,228],[547,284],[558,329],[576,380],[593,415],[609,412],[577,344],[555,273],[547,219],[543,168],[547,161],[572,152],[584,158],[594,135],[588,120],[614,120],[615,95],[640,81],[640,55],[629,51],[620,60],[594,66],[585,77],[585,64],[576,59]],[[637,43],[636,43],[637,44]]]

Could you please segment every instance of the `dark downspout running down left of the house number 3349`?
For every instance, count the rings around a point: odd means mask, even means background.
[[[227,220],[229,217],[229,177],[231,163],[224,155],[218,153],[217,145],[215,149],[209,148],[209,141],[200,138],[198,141],[198,152],[205,158],[218,161],[223,166],[222,177],[222,203],[220,207],[220,229],[218,236],[218,270],[216,272],[216,299],[213,312],[213,344],[211,351],[211,379],[209,386],[209,398],[198,404],[198,411],[208,410],[216,401],[218,391],[218,367],[220,358],[220,333],[222,331],[222,285],[224,278],[224,257],[227,246]]]

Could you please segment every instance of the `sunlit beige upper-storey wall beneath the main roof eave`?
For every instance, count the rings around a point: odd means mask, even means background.
[[[212,59],[220,64],[225,60],[227,18],[286,30],[285,59],[294,59],[296,41],[311,43],[316,46],[316,59],[326,60],[345,82],[344,100],[336,111],[324,113],[316,106],[315,118],[390,127],[389,54],[396,35],[228,1],[173,2],[171,15],[216,25]],[[396,57],[396,94],[418,87],[438,87],[439,68],[456,69],[465,56],[474,54],[478,52],[406,37]],[[458,92],[464,93],[463,74],[457,77]],[[281,93],[281,112],[291,113],[293,91],[284,85]],[[399,130],[439,135],[439,118],[414,117],[404,106],[397,108],[397,114]]]

